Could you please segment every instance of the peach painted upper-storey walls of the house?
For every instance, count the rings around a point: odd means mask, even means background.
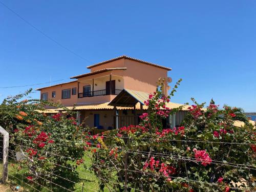
[[[40,93],[48,93],[48,99],[54,102],[61,102],[66,106],[72,106],[74,103],[84,104],[84,103],[100,103],[109,102],[115,98],[116,95],[101,95],[94,97],[83,97],[78,98],[78,93],[83,92],[83,86],[91,85],[92,91],[92,79],[94,79],[94,91],[105,90],[106,81],[110,80],[110,75],[112,80],[115,80],[115,89],[131,89],[136,91],[143,91],[147,93],[153,93],[156,90],[156,82],[158,79],[167,79],[167,69],[160,67],[147,65],[146,63],[128,59],[120,58],[114,61],[106,62],[98,66],[89,67],[91,72],[102,70],[105,68],[126,68],[126,70],[113,70],[105,71],[98,74],[93,74],[86,77],[80,77],[75,82],[62,83],[56,86],[51,86],[47,88],[41,88]],[[81,72],[82,73],[82,72]],[[78,86],[79,84],[79,86]],[[95,86],[97,84],[97,86]],[[79,87],[79,90],[78,90]],[[76,95],[72,95],[69,99],[61,99],[61,91],[65,89],[77,88]],[[52,98],[52,92],[56,92],[56,97]],[[167,83],[164,87],[164,94],[167,93]]]

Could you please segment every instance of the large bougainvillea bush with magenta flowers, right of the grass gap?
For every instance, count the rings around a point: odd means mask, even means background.
[[[180,81],[179,81],[180,82]],[[162,127],[169,96],[159,89],[145,104],[140,125],[121,127],[94,138],[92,169],[101,188],[113,191],[253,191],[255,132],[235,127],[237,109],[212,101],[188,108],[179,127]],[[163,84],[160,81],[159,87]],[[240,114],[241,115],[241,114]],[[91,146],[91,143],[88,144]],[[135,189],[132,189],[135,188]],[[136,190],[135,190],[136,191]]]

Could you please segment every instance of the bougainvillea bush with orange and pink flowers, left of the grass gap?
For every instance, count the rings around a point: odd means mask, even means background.
[[[0,105],[0,125],[10,134],[9,159],[15,160],[16,152],[22,154],[12,168],[36,188],[72,189],[79,179],[76,167],[82,162],[88,132],[77,125],[73,112],[60,104],[22,100],[30,92],[9,97]],[[67,113],[47,116],[41,112],[46,105],[63,108]]]

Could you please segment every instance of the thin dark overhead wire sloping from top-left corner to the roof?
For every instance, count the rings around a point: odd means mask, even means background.
[[[3,2],[0,1],[0,3],[6,7],[9,11],[11,11],[13,14],[15,14],[17,17],[19,17],[20,19],[22,19],[25,23],[27,23],[29,26],[31,26],[32,28],[34,28],[36,31],[38,31],[39,33],[41,33],[42,35],[44,35],[45,37],[47,37],[48,39],[52,40],[53,42],[55,42],[55,44],[57,44],[58,46],[62,47],[63,49],[66,49],[67,51],[69,51],[70,53],[74,54],[75,56],[86,60],[89,63],[92,63],[90,60],[82,57],[81,55],[75,53],[74,51],[70,50],[69,48],[61,45],[58,41],[54,40],[52,37],[50,37],[49,35],[47,35],[46,33],[42,32],[41,30],[39,30],[37,27],[35,27],[34,25],[32,25],[31,23],[29,23],[25,18],[23,18],[22,16],[20,16],[18,13],[16,13],[15,11],[13,11],[11,8],[9,8],[7,5],[5,5]]]

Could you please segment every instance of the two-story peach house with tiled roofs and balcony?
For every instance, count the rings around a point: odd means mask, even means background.
[[[87,68],[91,71],[71,77],[74,81],[37,90],[40,90],[42,100],[61,102],[70,108],[75,105],[79,123],[85,119],[86,125],[104,130],[138,124],[138,116],[147,109],[143,101],[156,90],[159,78],[170,81],[167,72],[172,70],[128,56],[116,57]],[[166,81],[163,94],[167,94],[168,88]],[[181,104],[168,105],[175,108]],[[165,122],[166,127],[181,122],[187,106],[183,109],[179,115]]]

